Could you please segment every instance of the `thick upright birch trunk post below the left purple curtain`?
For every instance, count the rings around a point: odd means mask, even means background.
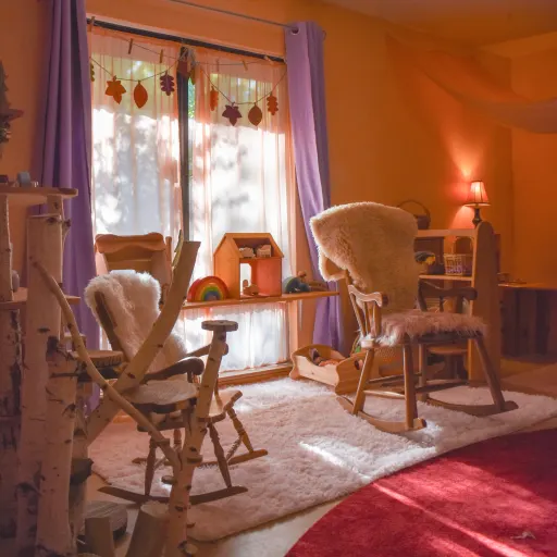
[[[62,282],[62,219],[44,214],[27,219],[28,293],[22,380],[22,432],[17,485],[17,556],[34,555],[37,534],[40,466],[45,451],[46,360],[48,337],[60,330],[60,307],[35,264]]]

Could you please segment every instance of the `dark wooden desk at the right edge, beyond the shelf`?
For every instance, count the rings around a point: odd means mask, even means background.
[[[557,351],[557,284],[502,283],[503,355]]]

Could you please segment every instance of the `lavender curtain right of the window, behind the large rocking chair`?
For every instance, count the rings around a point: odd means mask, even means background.
[[[313,22],[299,22],[292,27],[286,29],[286,63],[296,180],[312,272],[317,277],[320,276],[318,248],[309,227],[309,220],[331,207],[323,63],[324,33]],[[320,300],[313,342],[338,349],[342,344],[341,332],[338,297]]]

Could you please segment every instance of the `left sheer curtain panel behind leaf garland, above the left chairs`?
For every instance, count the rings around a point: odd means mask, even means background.
[[[92,207],[96,234],[160,232],[174,239],[182,227],[177,95],[160,89],[159,76],[180,54],[180,45],[94,27]],[[127,39],[127,40],[126,40]],[[163,63],[160,52],[164,49]],[[99,67],[100,64],[107,71]],[[172,74],[175,71],[172,69]],[[112,76],[126,92],[119,104],[104,92]],[[147,89],[143,108],[134,102],[137,82]]]

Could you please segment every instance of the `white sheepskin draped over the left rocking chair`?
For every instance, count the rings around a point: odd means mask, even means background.
[[[112,271],[92,278],[85,289],[85,301],[97,321],[95,293],[104,295],[115,325],[116,335],[129,358],[133,358],[159,317],[161,287],[148,273],[136,271]],[[100,322],[100,321],[99,321]],[[182,338],[172,333],[162,350],[154,358],[149,372],[163,369],[184,358],[187,354]]]

